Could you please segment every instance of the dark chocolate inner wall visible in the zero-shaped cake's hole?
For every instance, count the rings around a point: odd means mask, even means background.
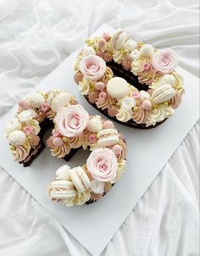
[[[114,60],[107,63],[107,66],[113,70],[114,75],[124,78],[132,86],[135,86],[139,91],[147,91],[148,86],[141,84],[138,77],[134,75],[130,70],[125,70],[121,64],[117,64]]]

